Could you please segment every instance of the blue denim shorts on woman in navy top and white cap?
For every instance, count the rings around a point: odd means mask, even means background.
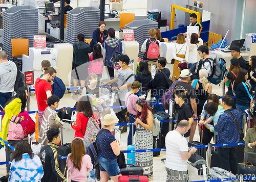
[[[99,161],[99,169],[101,171],[106,171],[110,176],[116,176],[121,174],[116,159],[109,160],[99,156],[98,161]]]

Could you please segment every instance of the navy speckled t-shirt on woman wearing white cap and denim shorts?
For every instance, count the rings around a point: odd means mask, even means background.
[[[109,159],[109,160],[115,160],[117,159],[117,156],[112,150],[111,143],[116,140],[114,135],[108,131],[108,129],[104,129],[106,132],[102,132],[99,134],[96,138],[96,142],[99,147],[99,155],[102,158]]]

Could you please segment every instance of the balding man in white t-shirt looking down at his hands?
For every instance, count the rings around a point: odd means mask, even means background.
[[[182,136],[187,133],[189,123],[181,120],[174,131],[167,133],[165,137],[166,161],[165,169],[167,172],[166,182],[187,181],[187,160],[197,149],[188,148],[187,140]]]

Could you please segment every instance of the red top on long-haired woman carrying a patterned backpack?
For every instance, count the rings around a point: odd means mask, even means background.
[[[83,135],[86,134],[88,119],[89,118],[85,117],[83,113],[76,114],[76,125],[72,125],[72,128],[75,129],[75,138],[76,137],[83,138]],[[82,132],[81,132],[81,129],[82,129]]]

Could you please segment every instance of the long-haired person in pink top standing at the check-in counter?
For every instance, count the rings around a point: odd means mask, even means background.
[[[90,55],[90,64],[88,74],[95,73],[98,76],[98,85],[100,85],[100,79],[103,72],[103,55],[101,54],[101,47],[99,44],[93,46],[93,54]]]

